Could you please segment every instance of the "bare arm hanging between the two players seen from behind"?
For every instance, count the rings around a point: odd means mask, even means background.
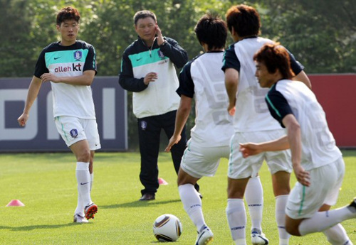
[[[233,68],[228,68],[225,70],[225,87],[226,92],[229,96],[229,106],[227,111],[231,116],[235,114],[235,103],[236,103],[236,93],[237,85],[239,84],[239,72]]]

